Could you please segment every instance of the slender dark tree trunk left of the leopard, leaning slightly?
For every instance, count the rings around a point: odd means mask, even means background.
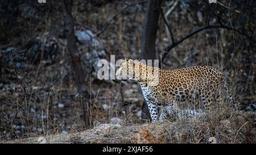
[[[64,22],[65,22],[65,32],[66,39],[68,43],[68,52],[72,62],[73,76],[75,79],[75,84],[77,91],[81,97],[82,111],[84,117],[85,128],[89,128],[90,123],[90,103],[88,102],[89,93],[86,87],[86,74],[85,70],[82,68],[81,57],[76,45],[76,36],[74,33],[74,23],[72,18],[72,1],[62,0],[62,7],[64,11]],[[87,78],[86,78],[87,79]]]

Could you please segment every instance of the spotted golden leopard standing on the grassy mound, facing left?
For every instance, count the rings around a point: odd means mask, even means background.
[[[139,83],[152,122],[172,116],[200,115],[202,110],[214,108],[221,94],[230,106],[237,108],[224,74],[213,66],[164,70],[126,58],[115,77],[122,82],[134,80]],[[182,110],[184,103],[188,108]]]

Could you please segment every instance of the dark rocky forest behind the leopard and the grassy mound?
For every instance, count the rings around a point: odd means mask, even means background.
[[[139,0],[1,0],[0,141],[79,132],[101,123],[143,123],[139,85],[97,79],[97,62],[110,55],[115,60],[153,56],[145,54],[148,45],[143,44],[147,5]],[[151,6],[159,18],[153,21],[155,47],[149,46],[162,68],[214,66],[225,73],[241,110],[251,111],[256,2],[158,5]]]

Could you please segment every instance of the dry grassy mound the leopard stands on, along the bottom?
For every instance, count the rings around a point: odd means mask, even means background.
[[[87,131],[44,136],[46,143],[256,143],[256,113],[221,110],[197,117],[146,124],[105,124]],[[2,143],[40,143],[39,137]]]

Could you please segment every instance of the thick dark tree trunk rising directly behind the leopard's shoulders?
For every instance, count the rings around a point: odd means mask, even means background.
[[[142,33],[142,48],[141,57],[144,60],[156,60],[155,51],[155,40],[156,33],[158,31],[158,19],[161,9],[161,0],[148,0],[146,9],[146,18],[144,20],[143,33]],[[150,113],[148,111],[148,106],[144,100],[142,105],[142,120],[149,119]]]

